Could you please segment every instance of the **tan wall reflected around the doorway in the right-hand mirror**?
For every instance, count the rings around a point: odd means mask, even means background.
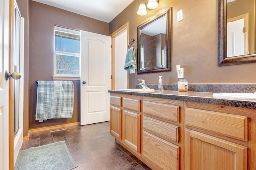
[[[255,0],[235,0],[227,4],[227,18],[249,13],[249,54],[255,50]]]

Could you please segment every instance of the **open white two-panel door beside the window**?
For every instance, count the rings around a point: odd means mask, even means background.
[[[81,125],[109,121],[111,37],[81,31]]]

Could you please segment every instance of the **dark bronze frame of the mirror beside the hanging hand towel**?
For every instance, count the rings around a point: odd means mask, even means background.
[[[140,70],[140,30],[158,18],[161,18],[162,16],[166,15],[166,66],[165,67],[159,67],[159,68],[151,68],[151,69],[145,69]],[[138,70],[137,74],[143,74],[143,73],[157,73],[157,72],[164,72],[164,71],[171,71],[171,8],[168,8],[164,12],[161,12],[160,14],[156,15],[152,19],[144,22],[140,26],[138,26],[137,31],[138,36],[138,43],[137,43],[137,63],[138,63]]]

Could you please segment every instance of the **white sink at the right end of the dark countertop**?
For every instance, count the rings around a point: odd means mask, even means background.
[[[256,94],[253,93],[213,93],[213,97],[224,99],[253,99],[256,100]]]

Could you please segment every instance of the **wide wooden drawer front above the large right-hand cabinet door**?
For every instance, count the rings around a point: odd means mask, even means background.
[[[248,140],[248,120],[245,116],[186,108],[186,125],[218,134]]]

